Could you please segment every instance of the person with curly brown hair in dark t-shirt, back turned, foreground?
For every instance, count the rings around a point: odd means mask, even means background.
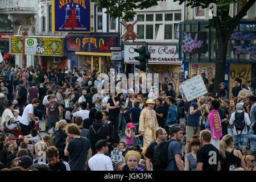
[[[85,171],[88,160],[92,156],[90,142],[86,137],[80,137],[81,130],[76,124],[67,127],[65,156],[69,156],[68,164],[72,171]]]

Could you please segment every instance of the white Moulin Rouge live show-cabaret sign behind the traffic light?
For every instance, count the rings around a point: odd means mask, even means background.
[[[134,57],[139,56],[139,53],[135,52],[134,49],[141,46],[144,44],[125,44],[124,59],[126,63],[139,64],[139,61],[134,59]],[[148,52],[151,53],[148,64],[182,64],[176,45],[148,44]]]

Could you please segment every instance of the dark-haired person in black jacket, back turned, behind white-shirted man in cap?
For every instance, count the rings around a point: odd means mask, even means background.
[[[90,146],[92,147],[92,155],[97,154],[95,144],[101,140],[109,140],[109,127],[102,122],[103,115],[101,111],[95,113],[95,122],[89,127],[90,130]]]

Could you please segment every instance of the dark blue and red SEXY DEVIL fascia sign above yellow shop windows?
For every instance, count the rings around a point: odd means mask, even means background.
[[[117,36],[66,36],[67,51],[110,52],[117,47]]]

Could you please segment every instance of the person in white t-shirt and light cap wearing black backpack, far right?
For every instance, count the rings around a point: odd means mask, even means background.
[[[229,124],[234,125],[233,137],[234,137],[234,147],[238,147],[240,143],[242,147],[242,154],[246,154],[246,147],[248,145],[248,130],[246,126],[250,126],[251,122],[249,115],[245,113],[243,108],[243,102],[240,102],[236,105],[236,113],[232,113],[230,117]]]

